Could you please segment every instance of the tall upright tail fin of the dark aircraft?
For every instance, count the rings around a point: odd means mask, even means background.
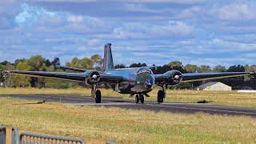
[[[104,64],[103,69],[105,71],[114,69],[114,63],[112,58],[112,52],[111,52],[111,43],[107,43],[104,46]]]

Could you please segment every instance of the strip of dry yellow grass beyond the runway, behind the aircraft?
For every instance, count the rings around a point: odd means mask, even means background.
[[[150,98],[146,100],[156,100],[158,89],[150,92]],[[79,94],[90,96],[89,89],[1,89],[0,94]],[[102,89],[102,96],[129,98],[128,95],[118,94],[113,90]],[[210,101],[210,104],[221,104],[230,106],[256,107],[256,94],[238,93],[237,91],[198,91],[198,90],[167,90],[166,102],[198,102]]]

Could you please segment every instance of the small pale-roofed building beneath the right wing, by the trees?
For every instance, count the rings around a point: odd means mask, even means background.
[[[201,86],[198,86],[197,90],[232,90],[231,86],[227,86],[222,82],[207,82]]]

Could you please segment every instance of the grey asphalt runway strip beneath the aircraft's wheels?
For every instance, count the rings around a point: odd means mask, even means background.
[[[238,106],[221,106],[206,103],[185,103],[185,102],[164,102],[158,103],[154,101],[146,101],[144,104],[136,104],[133,100],[123,98],[102,97],[102,103],[95,103],[93,98],[78,96],[72,94],[36,94],[36,95],[0,95],[2,97],[22,98],[27,100],[38,100],[42,102],[62,102],[74,106],[105,106],[105,107],[120,107],[123,109],[133,110],[151,110],[165,111],[171,113],[194,114],[198,112],[208,114],[226,114],[226,115],[249,115],[256,117],[256,108],[238,107]],[[34,103],[28,103],[34,104]]]

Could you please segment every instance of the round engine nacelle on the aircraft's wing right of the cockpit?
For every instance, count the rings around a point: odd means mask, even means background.
[[[182,82],[182,73],[178,70],[167,71],[164,75],[167,76],[166,84],[168,85],[178,85]]]

